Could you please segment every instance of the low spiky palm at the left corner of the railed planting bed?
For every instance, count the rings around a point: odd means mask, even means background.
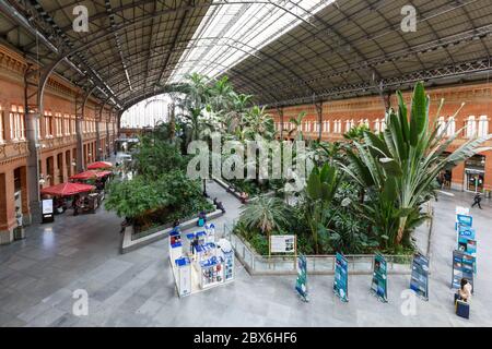
[[[241,221],[249,229],[259,229],[270,236],[281,229],[281,224],[290,219],[290,208],[278,197],[259,196],[241,213]]]

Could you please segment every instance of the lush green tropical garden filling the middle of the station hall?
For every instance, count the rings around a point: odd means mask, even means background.
[[[253,96],[236,93],[226,77],[213,81],[192,74],[187,83],[166,88],[176,112],[142,137],[134,154],[138,174],[114,183],[106,204],[142,226],[211,209],[200,181],[186,177],[191,141],[211,146],[214,132],[222,142],[241,144],[279,137],[266,109],[256,106]],[[283,135],[304,141],[304,156],[313,164],[305,185],[288,192],[289,179],[230,179],[232,188],[251,197],[235,221],[235,233],[263,255],[269,237],[285,233],[297,236],[298,250],[305,254],[412,253],[412,233],[429,219],[423,206],[437,195],[437,176],[483,152],[481,144],[488,137],[471,139],[448,154],[462,130],[447,136],[448,124],[437,127],[443,101],[431,116],[422,83],[415,84],[409,104],[401,93],[397,96],[398,106],[386,112],[384,131],[361,125],[345,133],[343,142],[306,139],[301,131],[305,113],[289,120],[293,128]],[[222,154],[222,160],[230,156]],[[295,151],[292,157],[295,164],[301,160]],[[259,164],[253,165],[259,171]]]

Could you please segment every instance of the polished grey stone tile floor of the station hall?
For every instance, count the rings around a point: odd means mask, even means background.
[[[224,202],[231,221],[239,205],[223,189],[209,192]],[[452,251],[454,212],[471,196],[442,196],[432,236],[429,302],[417,300],[414,315],[401,312],[409,276],[389,276],[389,302],[370,292],[371,276],[350,276],[349,303],[331,291],[332,276],[309,277],[311,302],[301,302],[294,278],[250,277],[237,264],[236,280],[179,299],[167,260],[167,241],[120,255],[120,218],[57,217],[33,226],[27,239],[0,246],[0,326],[492,326],[492,205],[472,210],[478,231],[478,275],[469,321],[454,314]],[[89,315],[73,315],[73,291],[89,293]]]

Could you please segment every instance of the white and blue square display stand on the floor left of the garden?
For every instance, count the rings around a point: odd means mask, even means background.
[[[214,241],[215,227],[188,233],[169,233],[169,262],[179,297],[201,292],[234,280],[234,250],[231,242]]]

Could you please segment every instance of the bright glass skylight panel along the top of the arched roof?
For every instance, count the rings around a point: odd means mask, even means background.
[[[168,83],[187,74],[215,77],[260,50],[335,0],[214,0],[173,71]]]

